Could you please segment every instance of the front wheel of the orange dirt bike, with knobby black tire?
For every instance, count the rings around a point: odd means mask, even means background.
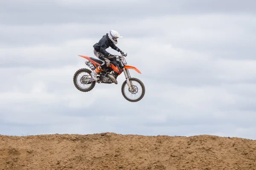
[[[122,95],[129,102],[138,102],[140,101],[145,94],[145,86],[142,81],[137,78],[129,78],[131,82],[132,89],[129,89],[129,86],[125,80],[122,84]]]

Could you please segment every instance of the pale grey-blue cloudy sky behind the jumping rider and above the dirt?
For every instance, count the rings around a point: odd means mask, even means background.
[[[92,134],[256,139],[255,0],[1,0],[0,134]],[[140,102],[118,84],[78,91],[93,45],[123,38]],[[108,48],[111,54],[119,54]]]

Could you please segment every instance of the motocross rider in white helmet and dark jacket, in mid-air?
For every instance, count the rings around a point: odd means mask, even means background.
[[[107,68],[110,64],[110,61],[115,61],[116,58],[114,55],[110,54],[106,51],[106,48],[113,48],[114,50],[120,52],[122,55],[125,53],[116,47],[117,39],[122,38],[122,36],[115,30],[109,31],[106,35],[103,35],[102,38],[93,45],[94,55],[102,60],[102,65],[99,65],[94,71],[92,71],[91,76],[93,79],[97,81],[97,74],[102,72],[105,68]]]

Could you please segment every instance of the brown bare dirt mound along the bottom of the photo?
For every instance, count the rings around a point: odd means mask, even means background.
[[[256,140],[218,136],[1,136],[0,170],[256,170]]]

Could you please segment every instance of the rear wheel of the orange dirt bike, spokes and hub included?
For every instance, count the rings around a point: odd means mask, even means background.
[[[79,90],[79,91],[83,91],[83,92],[87,92],[87,91],[91,91],[96,82],[83,82],[83,79],[90,79],[92,78],[92,76],[90,75],[92,71],[90,71],[87,68],[81,68],[78,71],[76,71],[76,73],[73,76],[73,82],[75,87]]]

